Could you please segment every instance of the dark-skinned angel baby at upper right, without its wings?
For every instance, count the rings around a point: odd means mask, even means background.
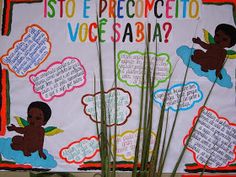
[[[205,43],[199,37],[192,40],[206,50],[195,50],[191,57],[192,61],[201,65],[201,70],[204,72],[216,70],[216,77],[222,79],[221,69],[227,55],[225,48],[236,44],[236,28],[229,24],[218,25],[215,29],[214,43]]]

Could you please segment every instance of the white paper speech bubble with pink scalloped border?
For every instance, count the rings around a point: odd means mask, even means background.
[[[86,83],[86,71],[80,60],[66,57],[29,77],[35,93],[44,101],[61,97]]]

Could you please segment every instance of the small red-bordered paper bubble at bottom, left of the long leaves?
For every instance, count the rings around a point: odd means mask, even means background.
[[[85,160],[92,159],[98,152],[98,138],[92,136],[70,143],[60,150],[59,156],[69,164],[81,164]]]

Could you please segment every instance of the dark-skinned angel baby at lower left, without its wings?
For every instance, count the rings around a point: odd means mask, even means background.
[[[10,125],[8,131],[15,131],[23,136],[17,135],[12,138],[11,147],[14,150],[23,151],[25,156],[31,156],[31,153],[38,151],[39,156],[46,159],[43,152],[44,128],[51,117],[51,108],[44,102],[32,102],[27,110],[28,125],[25,127],[16,127]]]

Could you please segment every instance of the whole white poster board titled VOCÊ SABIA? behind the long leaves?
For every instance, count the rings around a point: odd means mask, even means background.
[[[183,88],[164,172],[198,121],[178,172],[199,172],[208,161],[207,172],[235,173],[235,9],[235,0],[0,0],[0,170],[101,167],[100,41],[120,170],[132,170],[149,43],[152,71],[156,64],[150,153],[165,93],[171,125]]]

